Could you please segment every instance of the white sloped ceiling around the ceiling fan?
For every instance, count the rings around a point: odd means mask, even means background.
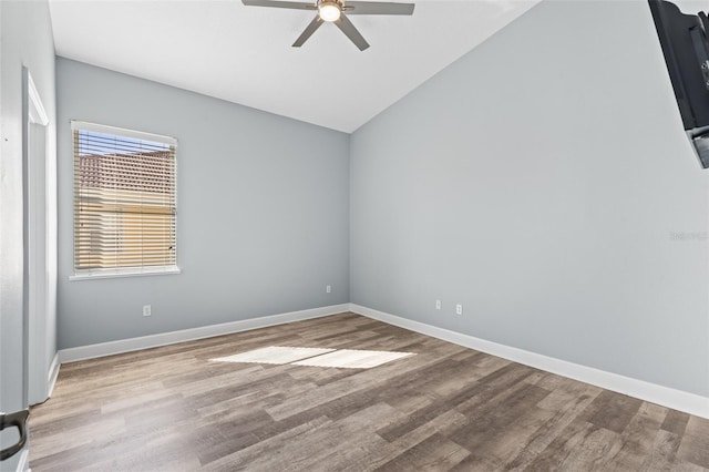
[[[240,0],[50,0],[50,11],[58,55],[350,133],[537,1],[351,17],[363,52],[333,24],[291,48],[312,12]]]

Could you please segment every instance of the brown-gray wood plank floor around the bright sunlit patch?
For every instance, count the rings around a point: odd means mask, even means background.
[[[269,346],[371,369],[216,362]],[[353,314],[64,365],[41,471],[709,470],[709,420]]]

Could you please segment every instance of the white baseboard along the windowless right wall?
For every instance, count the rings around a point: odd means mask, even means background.
[[[449,329],[438,328],[420,321],[413,321],[378,311],[371,308],[350,304],[349,311],[368,318],[378,319],[390,325],[399,326],[411,331],[431,336],[466,348],[475,349],[525,366],[542,369],[547,372],[568,377],[574,380],[590,383],[618,393],[635,397],[640,400],[657,403],[662,407],[684,411],[697,417],[709,419],[709,398],[689,393],[682,390],[671,389],[669,387],[658,386],[657,383],[646,382],[617,373],[606,372],[593,367],[580,366],[578,363],[555,359],[548,356],[525,351],[523,349],[512,348],[510,346],[500,345],[473,336],[463,335],[461,332],[451,331]]]

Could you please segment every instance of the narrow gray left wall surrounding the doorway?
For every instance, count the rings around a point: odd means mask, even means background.
[[[48,136],[53,152],[54,43],[47,2],[0,1],[0,409],[14,411],[24,407],[22,65],[30,70],[50,117]],[[52,308],[47,330],[53,332]],[[51,360],[56,351],[53,337],[48,336],[44,348]],[[18,459],[3,462],[2,468],[14,470]]]

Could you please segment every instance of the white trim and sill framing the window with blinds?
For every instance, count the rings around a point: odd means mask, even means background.
[[[2,0],[0,0],[2,1]],[[165,136],[162,134],[153,134],[145,133],[142,131],[129,130],[125,127],[119,126],[110,126],[97,123],[90,123],[85,121],[71,120],[71,131],[72,133],[76,130],[82,131],[93,131],[96,133],[115,133],[117,135],[123,135],[126,137],[133,137],[136,140],[145,140],[145,141],[156,141],[158,143],[169,144],[173,146],[177,146],[177,138],[172,136]],[[74,150],[72,147],[72,161]],[[175,157],[174,163],[175,170],[175,207],[177,207],[177,158]],[[72,165],[72,185],[73,185],[73,172],[74,167]],[[75,192],[75,188],[72,188],[72,192]],[[73,206],[73,203],[72,203]],[[72,207],[72,218],[74,217],[74,209]],[[175,228],[177,227],[177,217],[175,214]],[[72,224],[73,227],[73,224]],[[74,266],[74,252],[73,252],[73,235],[72,235],[72,267]],[[73,269],[73,274],[69,276],[69,280],[93,280],[93,279],[104,279],[104,278],[123,278],[123,277],[144,277],[144,276],[156,276],[156,275],[177,275],[181,274],[182,269],[177,265],[177,254],[175,253],[175,265],[173,266],[147,266],[147,267],[124,267],[124,268],[105,268],[105,269],[84,269],[76,270]]]

